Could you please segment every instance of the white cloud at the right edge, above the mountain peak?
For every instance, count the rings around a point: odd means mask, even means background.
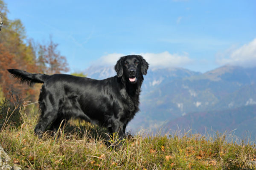
[[[241,46],[230,47],[226,51],[217,54],[216,61],[220,65],[238,65],[243,67],[256,66],[256,39]]]

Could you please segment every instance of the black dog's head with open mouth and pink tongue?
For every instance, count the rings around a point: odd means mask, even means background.
[[[143,79],[143,74],[147,74],[148,62],[139,55],[128,55],[121,57],[115,65],[117,77],[124,76],[128,82],[134,84],[138,79]]]

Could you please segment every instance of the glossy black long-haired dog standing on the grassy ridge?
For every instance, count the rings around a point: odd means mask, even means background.
[[[62,120],[79,117],[104,126],[122,139],[128,122],[139,111],[140,87],[148,63],[139,55],[121,57],[116,65],[117,76],[103,80],[67,74],[30,74],[8,71],[29,85],[44,83],[39,96],[41,117],[35,133],[41,137],[47,127],[55,130]]]

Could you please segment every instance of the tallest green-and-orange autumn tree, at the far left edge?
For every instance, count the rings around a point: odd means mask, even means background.
[[[37,93],[33,88],[22,87],[7,72],[8,68],[20,68],[34,72],[35,56],[32,47],[25,43],[25,28],[20,20],[9,20],[6,4],[0,0],[0,13],[4,24],[0,31],[0,90],[1,96],[8,96],[9,91],[24,98],[33,99]],[[0,96],[0,97],[1,97]],[[26,96],[26,97],[25,97]]]

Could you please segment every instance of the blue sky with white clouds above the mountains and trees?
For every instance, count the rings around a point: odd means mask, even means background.
[[[27,37],[52,35],[71,72],[141,54],[154,67],[256,66],[255,0],[5,0]],[[85,73],[86,74],[86,73]]]

